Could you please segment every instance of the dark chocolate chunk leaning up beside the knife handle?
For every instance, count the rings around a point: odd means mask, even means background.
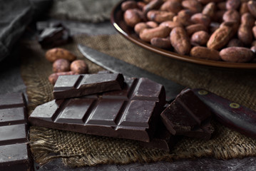
[[[208,139],[212,129],[209,127],[210,109],[189,88],[183,90],[161,113],[165,127],[173,135],[187,135]],[[206,122],[209,120],[208,122]],[[202,124],[206,122],[205,124]]]

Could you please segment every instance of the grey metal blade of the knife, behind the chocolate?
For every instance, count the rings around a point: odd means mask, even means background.
[[[162,84],[165,87],[167,101],[174,100],[178,93],[180,93],[180,91],[185,88],[185,86],[181,86],[178,83],[157,76],[153,73],[143,70],[142,68],[138,68],[137,66],[133,66],[131,64],[128,65],[128,63],[125,61],[121,61],[118,58],[108,56],[107,54],[96,51],[93,48],[89,48],[88,46],[78,45],[78,49],[81,51],[81,53],[83,53],[83,56],[88,58],[93,63],[106,68],[108,71],[113,73],[123,73],[124,76],[128,77],[145,77]]]

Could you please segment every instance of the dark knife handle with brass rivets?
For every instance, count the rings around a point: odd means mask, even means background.
[[[256,112],[208,90],[192,89],[223,125],[256,138]]]

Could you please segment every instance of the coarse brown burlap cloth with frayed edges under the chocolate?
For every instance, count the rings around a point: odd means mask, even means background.
[[[96,73],[103,68],[84,58],[76,47],[77,43],[121,58],[123,61],[133,63],[183,86],[205,88],[256,110],[255,71],[239,69],[230,71],[175,61],[140,48],[120,35],[75,36],[73,43],[62,47],[85,60],[90,73]],[[27,86],[31,113],[36,105],[53,99],[53,86],[48,82],[52,66],[44,58],[45,50],[42,50],[36,41],[24,42],[23,46],[21,75]],[[61,157],[64,164],[72,167],[106,163],[171,161],[194,157],[230,159],[256,156],[256,140],[230,130],[217,121],[213,121],[213,125],[215,133],[211,140],[183,138],[170,152],[143,148],[133,140],[105,138],[37,127],[31,127],[30,141],[37,162],[43,164],[53,158]]]

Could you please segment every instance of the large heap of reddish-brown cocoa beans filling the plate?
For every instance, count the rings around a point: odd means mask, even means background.
[[[256,61],[256,1],[123,1],[123,20],[139,38],[180,55]]]

